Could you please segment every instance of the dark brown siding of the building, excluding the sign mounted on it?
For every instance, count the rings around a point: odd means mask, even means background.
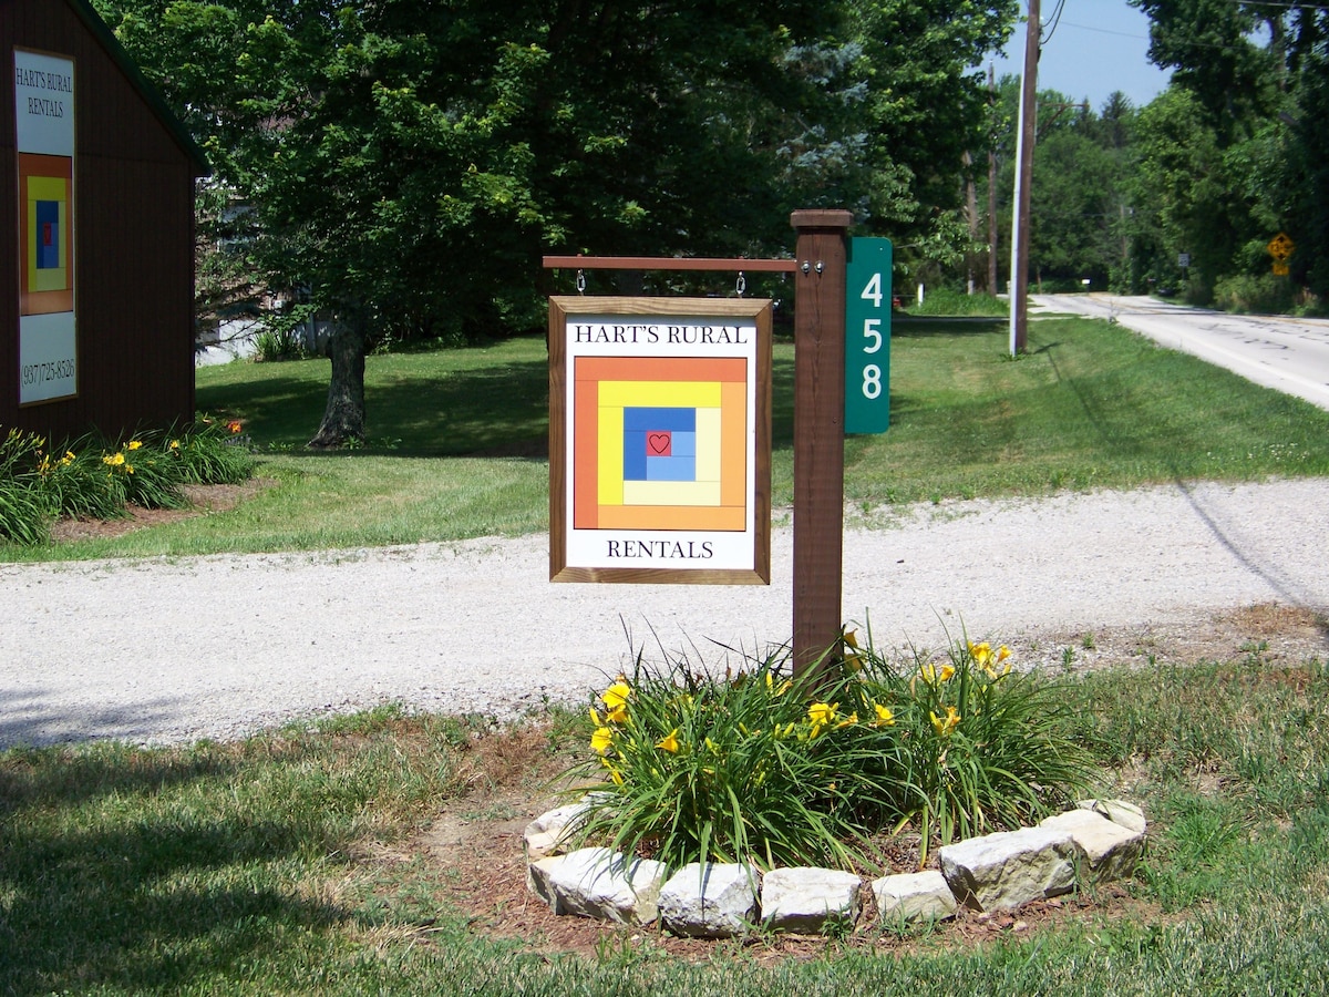
[[[74,60],[78,395],[19,405],[13,49]],[[64,0],[0,5],[0,425],[53,441],[166,427],[194,413],[194,178],[134,82]]]

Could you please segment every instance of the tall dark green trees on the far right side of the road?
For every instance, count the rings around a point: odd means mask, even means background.
[[[1143,174],[1160,198],[1171,246],[1197,263],[1193,296],[1207,302],[1225,279],[1272,283],[1264,247],[1278,231],[1297,245],[1293,279],[1329,294],[1329,12],[1231,0],[1132,3],[1151,17],[1151,58],[1175,66],[1172,89],[1151,116]],[[1196,140],[1195,149],[1174,148]],[[1204,173],[1183,179],[1184,161]]]

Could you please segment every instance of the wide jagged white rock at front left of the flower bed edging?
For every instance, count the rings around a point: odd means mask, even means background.
[[[664,864],[659,861],[629,861],[607,848],[578,848],[530,863],[526,883],[556,915],[651,924],[664,873]]]

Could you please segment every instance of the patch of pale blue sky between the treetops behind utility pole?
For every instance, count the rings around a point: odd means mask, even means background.
[[[1039,7],[1045,23],[1038,62],[1041,90],[1088,100],[1096,112],[1112,90],[1122,90],[1131,104],[1143,108],[1167,86],[1168,73],[1147,56],[1150,19],[1126,0],[1065,0],[1055,27],[1049,21],[1057,0],[1039,0]],[[1021,15],[1027,9],[1027,0],[1021,0]],[[1023,70],[1025,31],[1023,21],[1017,24],[1005,57],[991,60],[998,80]],[[982,68],[986,72],[986,61]]]

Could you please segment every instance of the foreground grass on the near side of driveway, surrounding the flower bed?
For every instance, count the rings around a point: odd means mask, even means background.
[[[1152,822],[1122,889],[1083,883],[1096,907],[983,944],[870,928],[799,956],[756,939],[679,960],[637,928],[561,954],[460,911],[460,871],[421,828],[482,807],[476,786],[542,792],[552,756],[586,750],[558,715],[496,731],[380,709],[234,744],[11,750],[0,993],[1321,993],[1329,670],[1252,649],[1090,674],[1067,697],[1103,792]]]

